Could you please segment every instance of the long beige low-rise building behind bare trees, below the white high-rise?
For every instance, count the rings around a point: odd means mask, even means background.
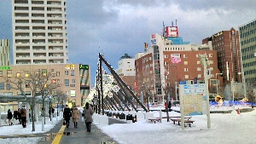
[[[67,95],[67,101],[73,106],[81,106],[90,92],[90,66],[82,64],[55,64],[55,65],[28,65],[6,66],[0,69],[0,94],[21,95],[17,89],[12,89],[12,83],[5,78],[17,78],[26,76],[26,72],[40,71],[50,74],[50,81],[59,86],[58,90]],[[32,95],[32,89],[27,85],[26,95]]]

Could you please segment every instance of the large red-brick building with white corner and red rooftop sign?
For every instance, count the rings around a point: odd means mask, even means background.
[[[174,37],[170,33],[174,33]],[[207,67],[211,70],[209,91],[216,93],[217,81],[222,85],[222,78],[215,78],[219,70],[217,52],[212,50],[212,45],[183,42],[182,37],[177,36],[177,26],[166,27],[166,37],[151,34],[148,51],[135,56],[137,93],[148,91],[148,94],[154,95],[154,99],[170,95],[174,100],[179,100],[177,84],[204,83],[204,69],[199,57],[203,54],[210,61]]]

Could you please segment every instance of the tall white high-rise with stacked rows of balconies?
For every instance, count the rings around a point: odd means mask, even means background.
[[[67,63],[66,0],[12,0],[14,65]]]

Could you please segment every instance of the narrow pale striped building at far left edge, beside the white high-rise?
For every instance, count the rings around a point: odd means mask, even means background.
[[[9,65],[10,65],[9,39],[0,39],[0,66],[9,66]]]

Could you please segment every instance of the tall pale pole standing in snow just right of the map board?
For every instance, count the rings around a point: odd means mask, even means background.
[[[208,90],[208,73],[207,66],[210,66],[209,60],[207,55],[199,55],[201,64],[204,67],[204,78],[205,78],[205,89],[206,89],[206,96],[207,96],[207,128],[211,129],[211,118],[210,118],[210,104],[209,104],[209,90]]]

